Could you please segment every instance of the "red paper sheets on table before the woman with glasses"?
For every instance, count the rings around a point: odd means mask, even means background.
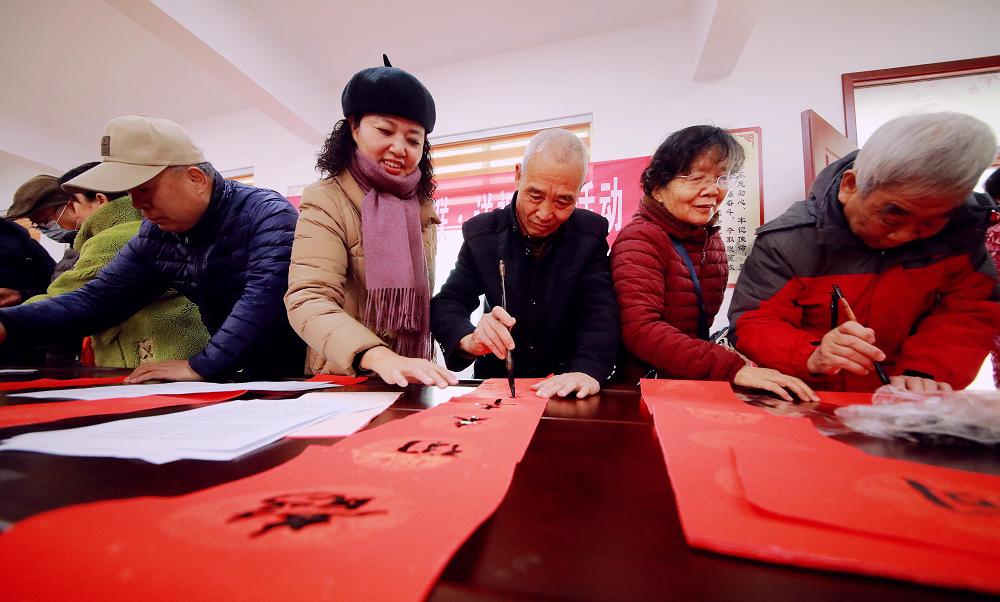
[[[642,394],[692,546],[1000,593],[1000,478],[868,456],[726,383]]]

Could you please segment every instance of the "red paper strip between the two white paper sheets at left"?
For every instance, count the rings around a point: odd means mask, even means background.
[[[126,414],[155,408],[178,405],[213,403],[235,399],[246,391],[219,391],[216,393],[188,393],[185,395],[148,395],[120,399],[95,399],[92,401],[53,401],[0,406],[0,428],[42,424],[81,416]]]

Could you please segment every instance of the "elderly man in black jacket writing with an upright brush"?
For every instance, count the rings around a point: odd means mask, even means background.
[[[576,210],[587,149],[552,129],[531,139],[514,171],[509,206],[462,225],[458,263],[431,301],[431,332],[449,368],[475,361],[477,378],[546,377],[541,397],[600,390],[618,351],[618,303],[608,262],[608,221]],[[506,269],[506,308],[499,264]],[[486,296],[478,325],[469,320]]]

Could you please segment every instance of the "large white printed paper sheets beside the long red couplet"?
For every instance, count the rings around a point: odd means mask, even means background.
[[[0,443],[0,451],[134,458],[154,464],[231,460],[331,416],[373,408],[374,399],[356,395],[231,401],[160,416],[25,433]]]

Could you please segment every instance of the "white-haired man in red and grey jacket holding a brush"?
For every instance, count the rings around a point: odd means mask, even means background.
[[[879,368],[910,390],[968,386],[1000,325],[989,209],[971,199],[996,145],[968,115],[913,115],[824,169],[757,231],[737,349],[825,390],[871,391]]]

